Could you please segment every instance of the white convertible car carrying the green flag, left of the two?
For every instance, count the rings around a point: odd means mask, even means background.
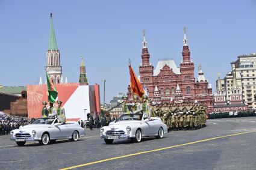
[[[75,121],[65,124],[57,123],[57,118],[40,118],[32,124],[20,126],[11,130],[11,140],[17,145],[25,145],[26,141],[39,141],[42,145],[55,142],[57,139],[71,139],[77,141],[86,131]]]

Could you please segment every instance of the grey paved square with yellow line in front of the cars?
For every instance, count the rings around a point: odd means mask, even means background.
[[[256,117],[207,120],[199,130],[171,131],[140,143],[106,145],[99,129],[77,142],[27,143],[0,136],[0,169],[255,169]]]

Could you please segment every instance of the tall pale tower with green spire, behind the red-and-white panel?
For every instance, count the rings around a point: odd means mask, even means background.
[[[49,77],[53,83],[63,83],[62,68],[60,65],[60,51],[58,50],[57,41],[55,38],[54,23],[52,21],[52,13],[51,13],[49,47],[46,52],[45,70],[48,72]]]

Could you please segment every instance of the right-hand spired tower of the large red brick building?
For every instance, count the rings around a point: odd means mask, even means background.
[[[184,39],[183,39],[183,61],[180,64],[181,71],[181,91],[183,97],[188,102],[195,100],[195,79],[194,79],[194,62],[190,59],[190,50],[187,45],[186,28],[184,28]]]

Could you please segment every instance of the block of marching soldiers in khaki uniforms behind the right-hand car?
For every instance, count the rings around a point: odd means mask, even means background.
[[[199,103],[162,103],[152,106],[152,116],[160,117],[170,130],[205,127],[207,106]]]

